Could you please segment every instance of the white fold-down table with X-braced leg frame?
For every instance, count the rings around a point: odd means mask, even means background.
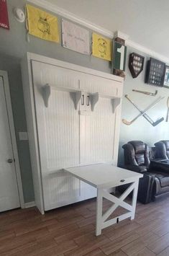
[[[114,167],[111,164],[92,164],[81,167],[72,167],[64,169],[79,180],[83,180],[97,189],[97,203],[96,203],[96,236],[101,234],[101,229],[111,226],[112,224],[118,223],[124,219],[130,217],[134,219],[135,208],[137,203],[137,190],[139,179],[143,175],[137,172],[132,172],[127,169]],[[132,183],[124,193],[117,198],[116,196],[109,193],[109,188],[117,187]],[[124,202],[129,193],[132,193],[132,204]],[[103,214],[103,198],[110,200],[113,204],[106,213]],[[111,213],[113,213],[118,206],[128,210],[120,216],[114,219],[107,220]]]

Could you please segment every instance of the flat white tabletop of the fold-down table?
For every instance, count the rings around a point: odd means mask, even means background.
[[[111,164],[91,164],[81,167],[65,168],[65,171],[77,177],[79,180],[93,187],[117,187],[130,182],[137,181],[142,174],[127,169],[115,167]],[[121,180],[124,180],[122,182]]]

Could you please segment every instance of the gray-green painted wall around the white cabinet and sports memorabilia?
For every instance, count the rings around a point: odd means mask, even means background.
[[[25,202],[29,202],[34,200],[32,172],[29,159],[29,145],[27,141],[19,141],[18,136],[19,131],[27,131],[22,92],[22,79],[19,66],[21,58],[29,51],[107,73],[111,72],[111,66],[108,61],[103,61],[99,58],[94,58],[93,56],[85,56],[81,53],[76,53],[65,49],[61,46],[61,43],[50,43],[33,36],[29,36],[30,42],[28,43],[26,40],[25,25],[17,22],[12,14],[12,9],[15,6],[24,9],[25,3],[26,1],[23,0],[8,1],[10,30],[8,31],[0,28],[0,69],[8,71],[9,74],[9,86],[12,97],[12,108],[17,136],[19,162],[22,173],[24,200]],[[58,20],[60,25],[60,17]],[[135,50],[128,48],[127,53],[132,51]],[[155,97],[134,93],[132,92],[132,89],[137,88],[150,91],[155,91],[156,89],[156,87],[144,84],[144,74],[145,69],[137,79],[132,79],[132,76],[129,74],[129,70],[127,69],[127,75],[124,81],[124,94],[129,94],[129,96],[132,97],[132,100],[137,102],[138,105],[140,105],[140,107],[143,109],[144,107],[147,107],[147,105],[149,105]],[[157,89],[158,95],[165,95],[165,97],[167,97],[167,94],[169,94],[168,89]],[[160,102],[152,111],[150,111],[150,115],[154,120],[159,118],[161,115],[165,115],[165,105],[166,99],[163,100],[163,102]],[[132,105],[130,105],[129,102],[127,102],[127,100],[124,98],[122,103],[122,117],[131,120],[134,118],[134,115],[137,115],[137,113],[137,110],[134,110],[134,107],[132,107]],[[119,162],[122,162],[123,159],[122,144],[126,143],[127,141],[131,139],[140,139],[152,145],[155,141],[162,138],[168,138],[168,123],[163,122],[156,128],[153,128],[149,123],[147,123],[146,120],[144,120],[144,118],[140,118],[131,126],[122,124],[119,144]]]

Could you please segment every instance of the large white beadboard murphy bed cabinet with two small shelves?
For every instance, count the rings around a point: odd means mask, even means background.
[[[93,198],[96,188],[63,168],[117,165],[123,79],[33,53],[22,79],[37,208]]]

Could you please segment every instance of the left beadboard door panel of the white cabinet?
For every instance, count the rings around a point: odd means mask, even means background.
[[[80,182],[63,172],[63,167],[79,165],[79,115],[70,93],[55,89],[78,88],[78,79],[64,69],[44,63],[32,63],[37,135],[42,172],[45,211],[80,199]],[[42,86],[51,85],[50,100],[45,107]]]

